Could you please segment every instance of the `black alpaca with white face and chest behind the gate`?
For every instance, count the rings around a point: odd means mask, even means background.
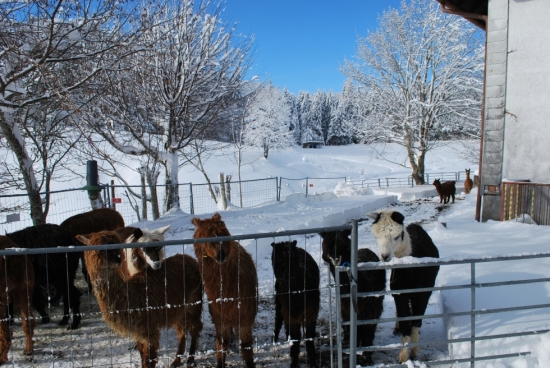
[[[382,211],[367,214],[374,219],[371,231],[380,250],[380,258],[389,262],[393,257],[402,258],[439,258],[439,251],[432,239],[418,224],[403,225],[405,217],[397,211]],[[392,270],[390,288],[393,291],[403,289],[434,287],[439,266],[396,268]],[[397,317],[423,316],[428,306],[431,291],[393,294]],[[409,360],[408,343],[419,340],[422,319],[399,321],[401,343],[404,345],[399,355],[399,362]],[[418,355],[418,346],[410,349],[410,358]]]

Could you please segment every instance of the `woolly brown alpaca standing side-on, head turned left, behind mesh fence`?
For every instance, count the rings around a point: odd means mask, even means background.
[[[121,243],[114,231],[78,235],[78,240],[87,245]],[[178,335],[172,366],[181,365],[189,331],[187,364],[193,364],[202,331],[202,284],[197,261],[176,254],[163,261],[162,269],[147,269],[126,280],[119,256],[119,250],[84,252],[93,291],[107,325],[120,336],[136,341],[142,368],[156,366],[160,329],[170,327]]]

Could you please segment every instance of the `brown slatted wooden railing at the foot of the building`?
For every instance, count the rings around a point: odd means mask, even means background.
[[[550,225],[550,184],[502,182],[500,220]]]

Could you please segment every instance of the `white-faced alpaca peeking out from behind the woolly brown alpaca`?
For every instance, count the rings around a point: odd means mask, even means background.
[[[170,225],[155,230],[127,226],[115,230],[125,243],[148,243],[164,241],[164,233]],[[127,277],[142,272],[147,267],[158,270],[164,260],[164,247],[125,248],[121,250],[122,265]]]

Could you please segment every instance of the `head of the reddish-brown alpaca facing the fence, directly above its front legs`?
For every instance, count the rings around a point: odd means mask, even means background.
[[[231,236],[219,213],[214,214],[210,219],[201,220],[195,217],[191,220],[191,223],[195,225],[195,233],[193,234],[194,239]],[[231,245],[232,242],[230,241],[196,243],[195,253],[197,257],[210,257],[219,264],[222,264],[229,256]]]

